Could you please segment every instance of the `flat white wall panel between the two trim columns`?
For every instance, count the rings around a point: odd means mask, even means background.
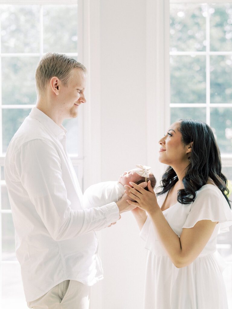
[[[147,164],[145,14],[140,0],[101,1],[102,181]],[[101,244],[102,309],[142,308],[146,252],[132,214],[102,231]]]

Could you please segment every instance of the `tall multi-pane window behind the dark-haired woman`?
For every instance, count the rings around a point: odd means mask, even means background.
[[[171,123],[193,118],[211,126],[232,193],[232,3],[197,2],[170,1]],[[231,236],[232,230],[218,236],[218,251],[230,263],[224,273],[230,308]]]

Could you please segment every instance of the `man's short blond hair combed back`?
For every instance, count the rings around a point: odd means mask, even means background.
[[[43,94],[46,84],[56,76],[66,86],[72,69],[80,69],[87,72],[85,66],[65,54],[46,53],[36,68],[36,88],[38,94]]]

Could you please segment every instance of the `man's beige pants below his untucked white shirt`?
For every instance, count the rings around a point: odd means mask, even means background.
[[[28,302],[33,309],[88,309],[90,286],[65,280],[40,298]]]

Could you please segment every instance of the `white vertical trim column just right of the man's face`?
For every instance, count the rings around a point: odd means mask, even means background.
[[[84,111],[84,190],[101,181],[100,1],[83,2],[83,64],[88,70]]]

